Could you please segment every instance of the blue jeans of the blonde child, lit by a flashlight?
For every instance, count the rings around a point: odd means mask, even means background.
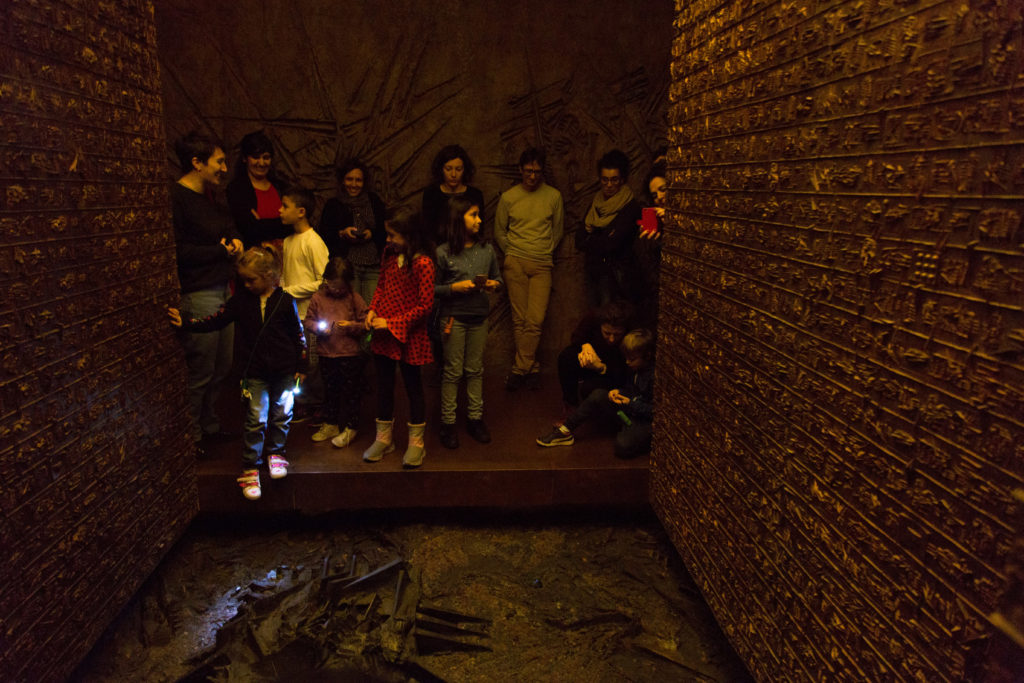
[[[245,380],[249,393],[245,433],[242,435],[242,461],[247,468],[263,464],[263,454],[285,454],[285,439],[292,422],[295,378],[291,375],[261,380]]]

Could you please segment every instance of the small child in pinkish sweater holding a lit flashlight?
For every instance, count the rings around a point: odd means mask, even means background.
[[[355,438],[362,398],[362,372],[367,356],[359,339],[366,336],[367,303],[352,288],[354,270],[341,256],[324,268],[324,283],[313,294],[303,326],[316,336],[316,353],[324,378],[324,423],[314,441],[331,439],[343,449]]]

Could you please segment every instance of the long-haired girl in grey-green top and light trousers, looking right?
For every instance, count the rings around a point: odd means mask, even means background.
[[[439,317],[444,347],[441,377],[441,444],[459,447],[455,412],[459,382],[466,376],[466,431],[480,443],[490,441],[483,423],[483,346],[487,341],[486,292],[502,286],[494,248],[481,234],[480,206],[466,198],[449,202],[443,232],[449,241],[437,248]]]

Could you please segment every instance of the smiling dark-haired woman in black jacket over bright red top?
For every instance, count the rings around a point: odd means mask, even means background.
[[[284,240],[292,228],[281,222],[285,183],[273,172],[273,145],[261,130],[242,138],[234,177],[227,184],[227,206],[248,249]],[[279,245],[280,247],[280,245]]]

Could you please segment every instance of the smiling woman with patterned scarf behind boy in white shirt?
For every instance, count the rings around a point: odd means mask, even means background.
[[[384,202],[367,186],[367,165],[349,159],[337,169],[338,196],[327,201],[318,231],[331,256],[343,256],[352,264],[354,287],[364,301],[374,298],[381,266],[384,230]]]

